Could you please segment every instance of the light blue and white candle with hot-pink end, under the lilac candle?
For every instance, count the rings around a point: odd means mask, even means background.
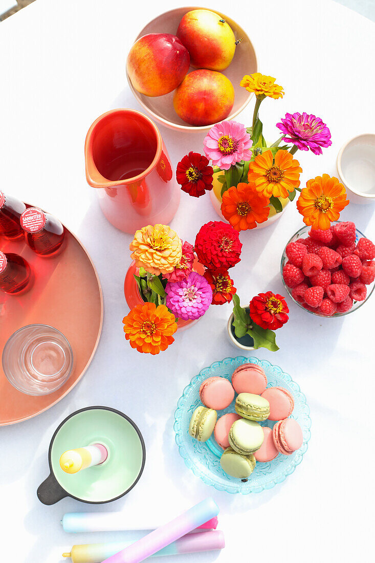
[[[134,516],[128,511],[123,512],[67,512],[61,520],[63,529],[69,533],[86,533],[90,531],[132,531],[155,530],[158,523],[150,520],[145,513],[142,515],[142,524],[134,523]],[[198,526],[199,530],[216,530],[217,517]]]

